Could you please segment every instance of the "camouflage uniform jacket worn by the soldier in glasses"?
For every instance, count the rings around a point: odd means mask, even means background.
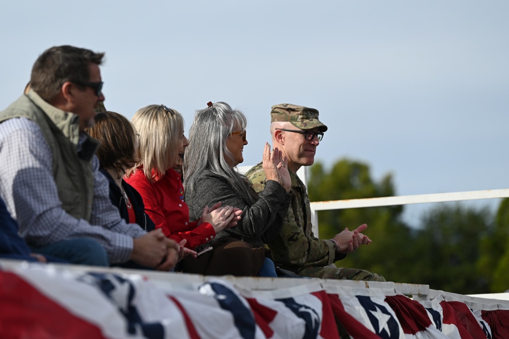
[[[265,172],[261,163],[246,173],[253,189],[261,192],[266,184]],[[300,273],[306,267],[324,267],[345,257],[336,254],[331,240],[319,240],[311,231],[311,210],[306,186],[299,177],[290,172],[291,199],[284,225],[279,235],[269,244],[275,263],[283,268]]]

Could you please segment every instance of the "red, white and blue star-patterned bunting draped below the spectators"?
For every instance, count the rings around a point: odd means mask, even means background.
[[[137,272],[148,275],[8,265],[0,270],[0,336],[339,339],[346,331],[355,339],[509,338],[508,304],[496,301],[446,293],[415,301],[392,283],[260,278],[272,288],[254,289],[242,280]]]

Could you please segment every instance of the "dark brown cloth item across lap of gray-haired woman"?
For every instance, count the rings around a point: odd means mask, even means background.
[[[203,275],[256,276],[270,251],[263,247],[253,247],[235,238],[223,238],[212,245],[212,250],[197,258],[186,256],[178,264],[177,271]]]

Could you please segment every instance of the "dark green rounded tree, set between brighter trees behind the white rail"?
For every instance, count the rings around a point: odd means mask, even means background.
[[[409,282],[460,294],[486,293],[489,276],[478,269],[481,242],[493,233],[488,208],[440,205],[424,215],[414,248],[419,272]],[[414,272],[415,274],[416,272]]]

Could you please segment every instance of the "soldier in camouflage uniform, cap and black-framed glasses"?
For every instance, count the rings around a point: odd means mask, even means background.
[[[316,146],[327,126],[318,120],[315,109],[283,103],[272,107],[271,134],[273,147],[288,157],[293,197],[279,236],[269,245],[275,262],[300,276],[324,279],[385,281],[384,277],[365,270],[337,268],[333,264],[371,240],[362,234],[366,225],[354,231],[347,229],[331,240],[319,240],[311,231],[311,210],[306,187],[296,175],[302,166],[314,162]],[[263,190],[266,182],[261,163],[246,173],[255,191]]]

